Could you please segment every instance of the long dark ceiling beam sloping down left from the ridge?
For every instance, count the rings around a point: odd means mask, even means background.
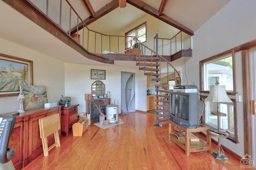
[[[111,2],[109,2],[108,4],[100,8],[100,10],[96,11],[94,18],[92,18],[91,16],[86,18],[84,20],[84,23],[86,23],[86,25],[89,25],[90,23],[98,20],[99,18],[103,17],[104,15],[108,14],[109,12],[113,11],[118,7],[119,7],[119,0],[112,0]],[[83,23],[78,24],[78,30],[82,28],[83,28]],[[76,27],[71,29],[71,34],[73,33],[76,33]]]

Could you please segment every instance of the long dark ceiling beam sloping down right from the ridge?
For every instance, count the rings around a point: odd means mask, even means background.
[[[154,16],[155,18],[158,18],[161,21],[164,21],[165,23],[172,25],[173,27],[179,29],[180,31],[183,31],[184,33],[187,33],[188,35],[193,36],[194,31],[191,29],[185,27],[184,25],[178,23],[177,21],[173,20],[172,18],[162,14],[161,16],[158,15],[158,10],[142,0],[126,0],[128,4],[131,4],[132,6],[146,12],[147,14],[150,14],[151,16]]]

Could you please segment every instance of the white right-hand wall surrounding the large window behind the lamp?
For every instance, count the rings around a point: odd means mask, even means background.
[[[185,73],[188,84],[196,83],[199,87],[199,61],[256,39],[256,1],[231,0],[217,14],[195,31],[193,36],[192,58],[183,66],[182,80]],[[193,71],[191,71],[193,70]],[[236,87],[242,94],[241,53],[236,53]],[[184,82],[184,81],[183,81]],[[243,105],[237,103],[238,144],[222,139],[222,145],[244,156]]]

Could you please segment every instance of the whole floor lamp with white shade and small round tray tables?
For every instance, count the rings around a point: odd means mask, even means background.
[[[229,137],[229,133],[226,131],[220,130],[220,116],[226,116],[226,113],[220,112],[220,102],[222,103],[231,103],[232,100],[228,97],[226,93],[225,86],[222,85],[214,85],[210,86],[210,93],[209,96],[205,99],[205,101],[208,102],[217,102],[217,111],[212,111],[212,115],[217,115],[218,117],[218,129],[210,129],[212,136],[218,137],[218,147],[216,150],[212,153],[213,156],[215,156],[216,160],[228,160],[228,157],[225,155],[224,150],[221,147],[220,138],[227,138]],[[216,135],[214,135],[216,134]]]

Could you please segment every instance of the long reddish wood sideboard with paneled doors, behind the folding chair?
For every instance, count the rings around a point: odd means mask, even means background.
[[[51,108],[40,107],[27,110],[25,113],[20,113],[20,115],[16,116],[16,123],[8,145],[9,148],[15,149],[12,163],[16,170],[24,168],[28,163],[43,153],[38,119],[60,112],[60,106]],[[11,116],[12,112],[3,115]],[[50,135],[48,137],[48,146],[53,143],[55,143],[54,135]]]

